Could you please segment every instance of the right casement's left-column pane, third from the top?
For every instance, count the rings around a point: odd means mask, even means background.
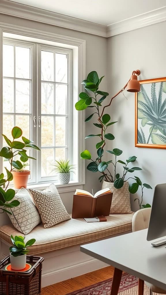
[[[41,146],[54,145],[54,124],[53,117],[41,117]]]

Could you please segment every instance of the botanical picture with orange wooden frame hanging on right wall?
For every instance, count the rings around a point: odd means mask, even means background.
[[[135,93],[135,146],[166,149],[166,78],[139,81]]]

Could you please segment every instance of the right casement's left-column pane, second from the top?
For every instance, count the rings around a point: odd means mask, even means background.
[[[41,84],[41,113],[54,114],[54,84]]]

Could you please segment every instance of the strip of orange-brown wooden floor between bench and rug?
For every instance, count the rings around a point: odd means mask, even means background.
[[[113,271],[114,268],[112,266],[108,266],[98,269],[97,271],[92,271],[91,273],[86,273],[76,278],[71,278],[69,280],[56,283],[54,285],[42,288],[41,295],[66,295],[70,292],[74,292],[112,278]]]

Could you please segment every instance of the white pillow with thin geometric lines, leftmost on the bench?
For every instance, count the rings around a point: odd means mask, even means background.
[[[9,208],[12,215],[8,214],[8,216],[14,227],[22,234],[27,235],[41,222],[40,215],[30,193],[25,188],[19,189],[13,200],[18,200],[20,204],[17,207]]]

